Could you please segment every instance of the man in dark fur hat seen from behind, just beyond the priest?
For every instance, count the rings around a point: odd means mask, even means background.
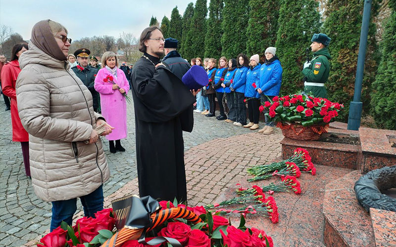
[[[162,61],[169,66],[173,74],[182,80],[182,77],[191,68],[191,66],[189,62],[184,60],[179,52],[177,52],[177,42],[178,41],[173,38],[168,38],[165,40],[165,57],[162,59]]]

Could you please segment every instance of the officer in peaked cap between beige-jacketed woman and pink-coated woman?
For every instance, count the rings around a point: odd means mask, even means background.
[[[77,62],[79,65],[72,68],[74,73],[80,80],[88,87],[92,94],[92,99],[94,101],[94,111],[98,112],[99,107],[99,93],[95,90],[95,76],[98,74],[98,69],[91,67],[88,64],[88,58],[91,51],[87,48],[80,48],[74,52],[77,57]]]

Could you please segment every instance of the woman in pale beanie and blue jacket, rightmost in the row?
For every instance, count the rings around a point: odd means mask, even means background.
[[[268,99],[272,100],[275,96],[279,96],[279,90],[281,89],[283,70],[281,62],[275,53],[275,47],[268,47],[265,50],[265,63],[261,65],[256,80],[256,90],[261,95],[261,104],[264,104]],[[270,122],[265,117],[265,126],[258,132],[272,134],[274,132],[274,122]]]

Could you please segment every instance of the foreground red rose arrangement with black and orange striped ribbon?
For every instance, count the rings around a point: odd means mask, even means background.
[[[245,226],[243,215],[235,227],[203,206],[188,207],[176,201],[158,203],[150,197],[133,196],[113,202],[113,207],[114,211],[97,212],[96,218],[80,218],[73,227],[62,222],[37,246],[273,247],[263,230]]]

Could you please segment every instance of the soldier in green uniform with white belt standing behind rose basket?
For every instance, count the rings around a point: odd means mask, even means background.
[[[314,34],[311,39],[313,58],[304,64],[302,74],[305,76],[304,91],[312,92],[315,97],[327,98],[325,82],[329,79],[331,59],[329,44],[331,39],[325,34]]]

